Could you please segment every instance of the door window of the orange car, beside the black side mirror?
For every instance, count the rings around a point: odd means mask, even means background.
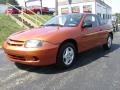
[[[92,24],[92,27],[99,26],[99,21],[98,21],[97,17],[95,17],[94,15],[86,16],[83,23],[88,23],[88,22],[90,22]]]

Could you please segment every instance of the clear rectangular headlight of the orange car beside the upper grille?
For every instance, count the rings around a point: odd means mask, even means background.
[[[26,48],[37,48],[42,46],[42,41],[40,40],[28,40],[25,42]]]

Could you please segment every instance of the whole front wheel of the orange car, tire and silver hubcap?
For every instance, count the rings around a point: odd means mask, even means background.
[[[63,44],[57,55],[57,68],[69,68],[71,67],[76,61],[77,49],[75,48],[74,44],[72,43],[65,43]]]

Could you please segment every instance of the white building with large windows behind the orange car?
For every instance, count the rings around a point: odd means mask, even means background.
[[[112,8],[101,0],[59,0],[58,14],[76,13],[76,11],[98,14],[106,20],[111,19],[112,14]]]

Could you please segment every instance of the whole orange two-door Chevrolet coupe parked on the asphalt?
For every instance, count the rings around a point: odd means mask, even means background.
[[[12,34],[3,48],[16,63],[41,66],[56,64],[68,68],[76,61],[77,53],[97,46],[110,49],[112,25],[102,23],[94,14],[65,14],[55,16],[41,28]]]

